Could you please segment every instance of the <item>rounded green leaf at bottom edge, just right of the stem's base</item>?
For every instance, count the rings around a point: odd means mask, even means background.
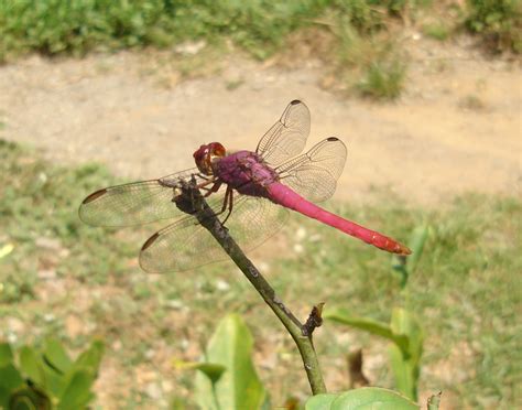
[[[347,391],[334,400],[329,410],[418,410],[413,401],[395,391],[363,387]]]

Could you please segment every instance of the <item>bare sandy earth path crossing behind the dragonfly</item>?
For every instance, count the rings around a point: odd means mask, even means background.
[[[145,53],[31,57],[0,67],[0,137],[58,162],[101,161],[150,179],[193,166],[204,142],[253,149],[300,98],[312,111],[309,144],[329,136],[348,144],[338,199],[363,201],[374,186],[420,204],[466,191],[520,193],[520,65],[461,46],[409,46],[407,88],[391,104],[323,90],[316,62],[283,71],[230,58],[219,75],[178,83],[168,62]]]

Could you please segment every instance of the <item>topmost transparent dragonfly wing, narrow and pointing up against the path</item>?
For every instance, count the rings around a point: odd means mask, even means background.
[[[308,133],[308,107],[295,99],[285,108],[281,119],[261,138],[255,152],[267,163],[276,166],[303,151]]]

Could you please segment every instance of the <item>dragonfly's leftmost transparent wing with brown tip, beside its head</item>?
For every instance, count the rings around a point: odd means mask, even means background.
[[[130,184],[111,186],[87,196],[81,203],[78,214],[83,222],[93,226],[131,226],[149,224],[154,220],[173,218],[184,215],[172,202],[181,181],[189,181],[197,169],[177,172],[159,180],[141,181]],[[219,202],[222,193],[214,194]]]

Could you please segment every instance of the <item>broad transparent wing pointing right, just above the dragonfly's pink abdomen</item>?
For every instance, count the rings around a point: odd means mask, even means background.
[[[335,137],[314,145],[308,152],[279,165],[281,182],[311,202],[328,199],[337,186],[346,162],[346,145]]]

